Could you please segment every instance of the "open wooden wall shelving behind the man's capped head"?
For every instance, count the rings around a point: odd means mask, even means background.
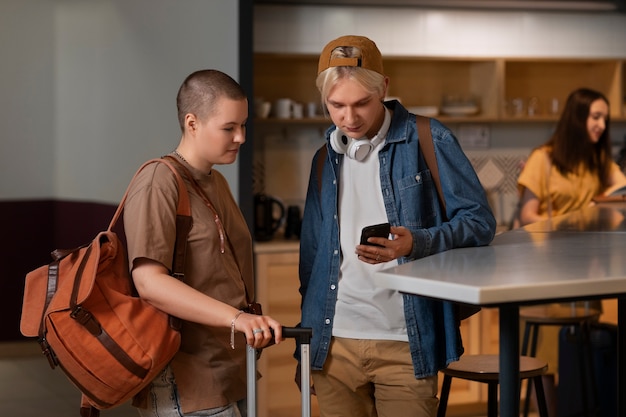
[[[317,56],[255,54],[254,95],[274,102],[289,97],[318,102]],[[458,116],[440,113],[443,122],[537,122],[557,120],[568,94],[579,87],[603,92],[611,119],[626,120],[626,70],[619,59],[422,58],[385,57],[388,96],[405,107],[439,106],[445,97],[474,97],[480,112]],[[515,102],[513,102],[516,100]],[[521,110],[513,105],[521,103]],[[558,105],[554,105],[558,102]],[[328,124],[313,120],[258,120],[259,123]]]

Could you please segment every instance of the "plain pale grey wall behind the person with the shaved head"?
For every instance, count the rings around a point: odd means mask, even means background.
[[[180,139],[190,72],[238,79],[238,2],[3,0],[0,199],[115,203]],[[219,167],[237,189],[237,164]]]

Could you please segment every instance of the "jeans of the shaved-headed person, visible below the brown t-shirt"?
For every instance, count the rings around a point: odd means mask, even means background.
[[[180,409],[174,373],[166,367],[150,386],[148,408],[138,408],[141,417],[246,417],[247,403],[243,399],[223,407],[192,411],[184,414]]]

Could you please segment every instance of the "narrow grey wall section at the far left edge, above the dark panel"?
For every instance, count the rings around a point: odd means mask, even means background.
[[[0,199],[54,193],[54,3],[0,3]]]

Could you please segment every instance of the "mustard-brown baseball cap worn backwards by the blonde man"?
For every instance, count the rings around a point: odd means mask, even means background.
[[[361,50],[360,58],[331,58],[335,48],[352,46]],[[322,51],[317,66],[317,73],[330,67],[361,67],[385,75],[383,71],[383,57],[376,44],[365,36],[342,36],[330,41]]]

